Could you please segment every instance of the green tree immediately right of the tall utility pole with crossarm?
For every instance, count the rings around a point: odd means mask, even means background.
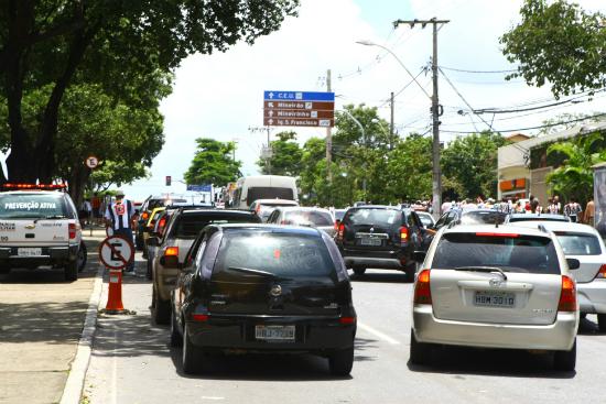
[[[507,141],[500,133],[458,138],[442,153],[444,175],[461,184],[465,197],[497,195],[497,150]]]

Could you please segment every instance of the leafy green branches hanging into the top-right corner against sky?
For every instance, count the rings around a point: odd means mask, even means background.
[[[526,0],[520,14],[522,21],[500,39],[507,59],[519,63],[508,78],[549,83],[556,98],[606,86],[604,14],[565,0]]]

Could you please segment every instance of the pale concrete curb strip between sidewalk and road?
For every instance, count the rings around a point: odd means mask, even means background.
[[[95,286],[93,288],[93,293],[90,294],[90,299],[88,301],[88,308],[86,309],[86,317],[84,320],[82,336],[78,341],[78,349],[76,351],[76,357],[69,367],[69,375],[67,376],[67,382],[63,389],[61,404],[80,403],[80,396],[84,389],[84,379],[86,376],[88,363],[90,362],[90,354],[93,352],[93,337],[95,335],[97,310],[104,285],[104,266],[99,266],[95,280]]]

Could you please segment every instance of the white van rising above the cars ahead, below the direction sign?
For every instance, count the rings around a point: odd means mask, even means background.
[[[255,175],[236,183],[231,208],[248,209],[257,199],[288,199],[299,201],[296,181],[282,175]]]

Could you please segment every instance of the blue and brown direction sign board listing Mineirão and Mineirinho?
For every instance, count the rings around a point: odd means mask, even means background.
[[[264,91],[263,124],[267,127],[332,128],[335,125],[335,94]]]

